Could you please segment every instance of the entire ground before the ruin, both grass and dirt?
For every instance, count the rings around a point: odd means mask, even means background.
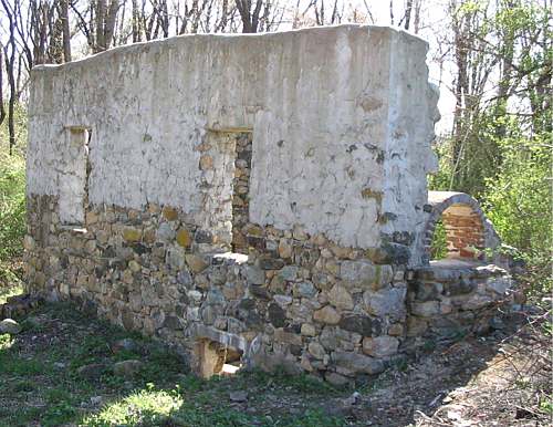
[[[199,381],[158,344],[133,335],[138,350],[116,352],[128,333],[49,305],[0,345],[0,426],[550,426],[547,320],[505,314],[489,335],[421,343],[365,386],[335,389],[263,373]],[[127,358],[139,375],[81,375]]]

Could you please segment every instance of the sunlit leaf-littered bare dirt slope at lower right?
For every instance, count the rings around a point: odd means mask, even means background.
[[[551,335],[544,314],[505,315],[488,336],[441,343],[388,373],[361,425],[550,426]]]

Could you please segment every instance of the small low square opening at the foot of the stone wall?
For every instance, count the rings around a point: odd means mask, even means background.
[[[213,375],[234,375],[242,368],[243,352],[207,339],[196,343],[198,374],[202,378]]]

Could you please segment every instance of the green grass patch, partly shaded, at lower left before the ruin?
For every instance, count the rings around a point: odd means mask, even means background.
[[[200,379],[161,344],[69,304],[44,305],[19,321],[23,332],[0,335],[0,426],[346,425],[324,409],[328,398],[351,392],[306,375],[251,371]],[[132,337],[137,350],[114,353],[114,342],[124,337]],[[139,372],[115,376],[111,366],[128,358],[143,362]],[[98,378],[81,376],[79,368],[92,363],[107,369]],[[247,407],[255,410],[232,403],[236,390],[247,390]]]

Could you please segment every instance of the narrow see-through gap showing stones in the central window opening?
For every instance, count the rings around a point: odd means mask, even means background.
[[[252,134],[236,134],[234,177],[232,180],[232,252],[248,253],[247,227],[250,207]]]

